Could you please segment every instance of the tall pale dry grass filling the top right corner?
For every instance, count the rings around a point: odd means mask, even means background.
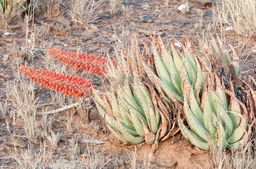
[[[229,25],[238,34],[256,37],[256,0],[217,0],[213,20]]]

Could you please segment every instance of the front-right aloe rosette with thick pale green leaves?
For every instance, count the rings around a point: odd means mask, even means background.
[[[185,88],[189,90],[184,90],[184,115],[190,130],[180,115],[178,119],[184,137],[203,150],[216,146],[230,150],[243,147],[248,136],[246,119],[241,115],[240,105],[233,92],[226,91],[230,95],[230,103],[227,104],[219,77],[215,74],[215,79],[212,78],[211,83],[205,85],[200,102],[196,100],[192,87],[186,85]]]

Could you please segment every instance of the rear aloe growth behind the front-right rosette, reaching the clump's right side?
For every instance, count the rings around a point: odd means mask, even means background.
[[[218,48],[214,39],[212,43],[199,39],[200,50],[196,50],[187,39],[186,47],[179,43],[181,51],[173,44],[170,44],[168,50],[160,37],[153,41],[156,41],[152,43],[151,48],[154,55],[154,63],[151,65],[154,66],[143,63],[145,72],[148,76],[154,77],[153,82],[161,97],[168,103],[174,101],[181,109],[185,84],[193,87],[196,98],[199,98],[204,90],[205,78],[218,67],[225,70],[227,77],[234,75],[236,81],[241,76],[236,50],[230,45],[233,50],[231,58],[220,40]]]

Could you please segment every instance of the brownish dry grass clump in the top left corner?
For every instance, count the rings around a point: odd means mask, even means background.
[[[25,0],[10,0],[10,6],[3,10],[0,5],[0,28],[8,28],[10,22],[14,22],[20,19],[22,12],[25,10],[23,4]]]

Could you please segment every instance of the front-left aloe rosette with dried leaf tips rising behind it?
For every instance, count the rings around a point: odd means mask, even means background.
[[[107,87],[103,86],[103,98],[95,90],[92,91],[97,109],[113,135],[128,144],[146,141],[152,145],[156,140],[169,137],[170,121],[167,107],[154,89],[141,79],[143,67],[140,59],[143,54],[136,44],[136,41],[132,42],[128,51],[118,53],[116,50],[116,67],[106,65],[105,76],[117,79],[118,85],[110,81]],[[128,81],[126,77],[129,77]],[[113,90],[109,90],[109,87]],[[159,136],[156,136],[157,133]]]

